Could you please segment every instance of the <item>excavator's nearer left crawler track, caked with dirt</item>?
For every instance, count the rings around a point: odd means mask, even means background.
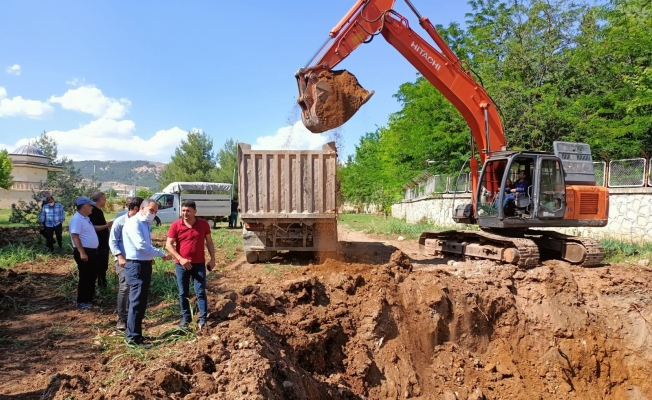
[[[486,231],[424,232],[419,237],[419,247],[430,255],[457,254],[467,258],[486,258],[521,268],[539,264],[539,248],[533,240]]]

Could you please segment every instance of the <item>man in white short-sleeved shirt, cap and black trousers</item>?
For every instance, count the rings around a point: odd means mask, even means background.
[[[88,197],[77,197],[77,212],[70,219],[70,239],[74,248],[73,257],[79,270],[77,284],[77,307],[83,310],[93,305],[95,279],[97,278],[97,247],[100,242],[88,216],[93,212],[94,201]]]

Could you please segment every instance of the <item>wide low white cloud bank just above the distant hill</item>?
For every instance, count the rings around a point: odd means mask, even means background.
[[[57,141],[59,156],[72,160],[148,160],[168,162],[188,132],[173,127],[160,130],[149,139],[135,134],[136,125],[131,120],[98,119],[77,129],[50,131],[48,136]],[[28,144],[21,139],[16,147]]]

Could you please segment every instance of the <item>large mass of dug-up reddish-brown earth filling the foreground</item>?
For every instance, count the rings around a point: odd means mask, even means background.
[[[396,251],[382,265],[328,260],[264,283],[247,271],[212,302],[204,336],[149,363],[116,361],[123,374],[112,384],[108,358],[63,371],[49,392],[56,399],[652,396],[649,269],[415,266]]]

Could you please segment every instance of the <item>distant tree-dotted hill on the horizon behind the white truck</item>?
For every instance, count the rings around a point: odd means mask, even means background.
[[[93,167],[97,181],[103,186],[108,184],[136,185],[156,191],[156,178],[161,174],[165,163],[152,161],[73,161],[73,165],[82,173],[83,178],[92,179]]]

